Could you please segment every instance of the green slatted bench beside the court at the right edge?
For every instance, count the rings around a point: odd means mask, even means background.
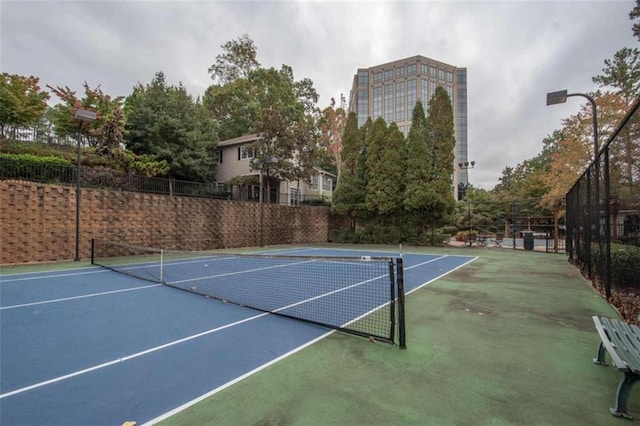
[[[616,406],[611,414],[631,420],[628,402],[633,385],[640,381],[640,327],[623,321],[594,316],[593,323],[600,335],[598,355],[593,362],[607,365],[606,353],[609,353],[613,365],[624,376],[618,384]]]

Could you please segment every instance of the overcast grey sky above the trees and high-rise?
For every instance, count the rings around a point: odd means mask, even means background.
[[[220,46],[247,34],[262,66],[287,64],[313,80],[324,108],[348,98],[358,68],[423,55],[467,68],[470,181],[491,189],[583,101],[547,107],[547,92],[595,90],[604,60],[637,46],[634,4],[0,0],[0,69],[79,93],[86,81],[112,96],[163,71],[196,96],[212,83]]]

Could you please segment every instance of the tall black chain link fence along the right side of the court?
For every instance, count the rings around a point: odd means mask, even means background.
[[[640,99],[566,196],[567,253],[640,323]]]

